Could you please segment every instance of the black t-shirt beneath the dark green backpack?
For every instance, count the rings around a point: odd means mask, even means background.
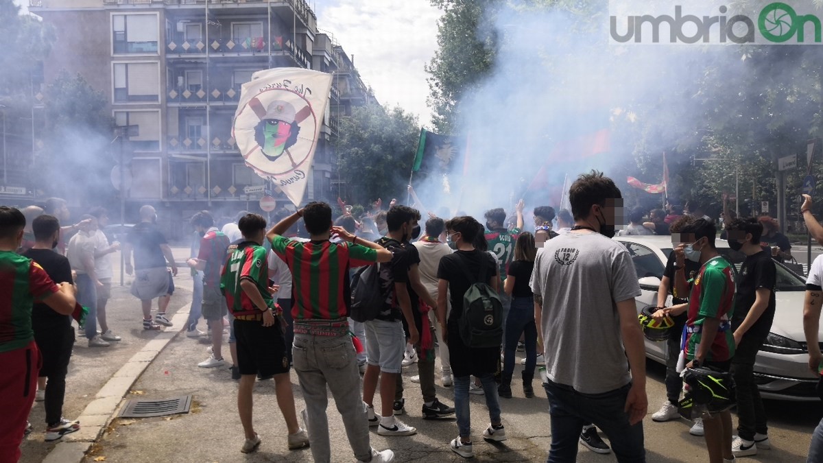
[[[461,262],[468,268],[472,281],[466,278]],[[481,250],[458,250],[440,259],[437,278],[449,281],[449,294],[452,302],[449,321],[460,320],[460,316],[463,315],[463,295],[468,291],[468,287],[477,283],[481,270],[486,273],[485,283],[490,283],[491,278],[497,275],[497,260],[494,255]]]

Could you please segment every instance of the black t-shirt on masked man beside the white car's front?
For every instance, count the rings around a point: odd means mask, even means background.
[[[756,292],[759,288],[770,290],[769,305],[760,315],[754,325],[746,331],[746,335],[765,337],[771,330],[774,320],[774,286],[777,282],[777,269],[769,252],[760,251],[749,255],[737,275],[737,294],[734,297],[734,315],[732,316],[732,330],[746,319],[751,306],[755,303]]]

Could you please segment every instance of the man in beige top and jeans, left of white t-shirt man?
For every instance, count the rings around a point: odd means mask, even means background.
[[[83,223],[80,232],[75,233],[68,241],[66,256],[72,264],[72,270],[77,273],[77,302],[89,309],[85,326],[89,347],[109,347],[111,344],[97,333],[97,289],[103,287],[95,268],[97,219],[91,215],[84,215],[81,220]],[[108,326],[105,330],[108,330]]]

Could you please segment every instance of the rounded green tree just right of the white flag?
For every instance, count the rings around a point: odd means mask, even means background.
[[[346,203],[368,204],[378,198],[404,202],[420,126],[400,107],[365,105],[340,119],[335,142],[338,169],[348,185]]]

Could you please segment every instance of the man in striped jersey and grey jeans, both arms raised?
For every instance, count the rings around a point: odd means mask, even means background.
[[[300,217],[311,234],[308,242],[282,236]],[[342,242],[332,243],[332,236],[339,236]],[[344,228],[332,227],[332,208],[327,203],[307,204],[272,227],[267,238],[272,241],[272,250],[291,269],[293,278],[292,354],[306,402],[304,419],[314,461],[330,461],[332,457],[326,415],[327,386],[358,461],[393,461],[393,451],[376,451],[370,445],[369,423],[360,400],[356,352],[346,318],[351,304],[346,269],[388,262],[392,253]]]

